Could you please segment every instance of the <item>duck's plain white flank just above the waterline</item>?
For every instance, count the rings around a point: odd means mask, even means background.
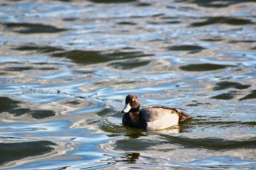
[[[179,124],[179,116],[178,114],[171,114],[170,112],[165,112],[158,120],[147,123],[148,130],[160,130]]]

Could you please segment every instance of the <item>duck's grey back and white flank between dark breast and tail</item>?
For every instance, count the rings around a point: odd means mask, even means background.
[[[160,130],[179,123],[179,115],[174,110],[144,108],[140,111],[146,120],[148,130]]]

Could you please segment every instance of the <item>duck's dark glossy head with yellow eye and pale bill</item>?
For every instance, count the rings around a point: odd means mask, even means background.
[[[136,95],[129,94],[125,98],[125,108],[122,113],[139,112],[139,99]]]

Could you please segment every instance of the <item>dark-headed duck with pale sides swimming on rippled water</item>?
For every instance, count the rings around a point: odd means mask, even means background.
[[[123,109],[123,125],[147,130],[161,130],[177,126],[179,123],[192,118],[177,108],[165,106],[151,106],[139,109],[139,99],[135,94],[125,98]]]

